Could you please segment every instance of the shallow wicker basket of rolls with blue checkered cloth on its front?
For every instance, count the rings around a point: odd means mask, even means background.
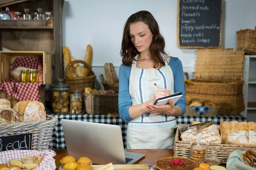
[[[220,106],[212,101],[201,102],[193,99],[190,105],[186,105],[186,112],[183,116],[214,117],[218,114]]]

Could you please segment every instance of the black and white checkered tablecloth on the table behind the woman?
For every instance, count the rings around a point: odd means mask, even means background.
[[[50,143],[50,149],[65,149],[66,143],[64,139],[64,133],[61,126],[61,119],[70,119],[70,120],[78,120],[78,121],[86,121],[86,122],[97,122],[97,123],[105,123],[111,125],[119,125],[122,130],[122,139],[124,148],[126,148],[126,130],[127,130],[127,122],[123,122],[119,117],[111,117],[108,115],[89,115],[89,114],[52,114],[47,113],[50,116],[54,116],[58,119],[58,122],[55,125],[55,129],[52,133],[52,141]],[[196,117],[196,116],[182,116],[177,117],[177,124],[191,124],[193,121],[198,122],[207,122],[214,120],[215,125],[220,125],[221,121],[232,121],[237,120],[239,122],[247,122],[247,119],[242,116],[229,116],[229,115],[217,115],[215,117]]]

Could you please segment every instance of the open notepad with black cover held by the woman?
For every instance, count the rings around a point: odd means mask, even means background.
[[[165,96],[165,97],[161,97],[159,99],[156,99],[154,101],[153,105],[157,105],[157,106],[158,105],[166,105],[166,104],[169,103],[168,102],[169,99],[172,99],[173,105],[175,105],[175,103],[178,101],[178,99],[180,99],[180,97],[182,97],[182,92],[171,94],[169,96]],[[155,115],[158,115],[158,114],[161,114],[161,113],[149,113],[149,112],[147,112],[146,116],[155,116]]]

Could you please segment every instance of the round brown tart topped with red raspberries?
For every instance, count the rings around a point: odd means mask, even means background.
[[[195,161],[176,156],[159,159],[155,165],[159,170],[193,170],[198,167]]]

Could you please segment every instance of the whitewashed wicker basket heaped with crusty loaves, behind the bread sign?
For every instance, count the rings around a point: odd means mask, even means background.
[[[41,102],[21,101],[11,108],[9,100],[0,99],[0,137],[29,134],[27,147],[31,150],[49,148],[56,122]]]

